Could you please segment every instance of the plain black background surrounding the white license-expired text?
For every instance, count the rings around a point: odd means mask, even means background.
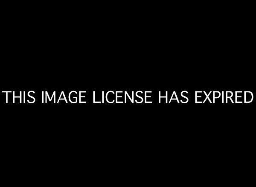
[[[5,176],[131,184],[250,178],[255,101],[196,105],[193,96],[255,94],[247,7],[42,7],[3,13],[1,91],[152,90],[154,104],[2,102]],[[187,105],[157,104],[157,91],[183,90]]]

